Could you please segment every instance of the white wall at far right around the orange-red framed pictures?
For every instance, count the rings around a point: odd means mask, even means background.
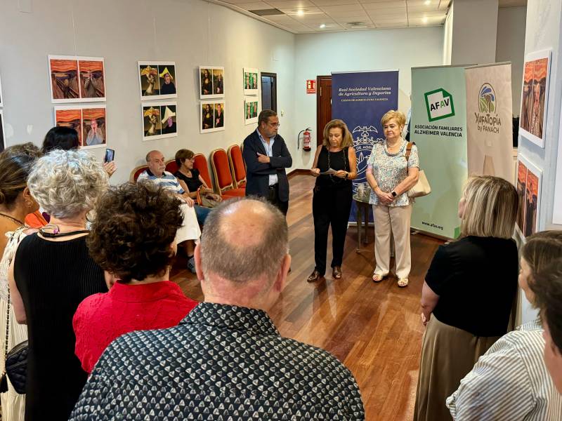
[[[527,4],[525,54],[547,48],[551,48],[552,50],[549,99],[547,104],[547,126],[544,128],[544,148],[538,147],[525,138],[521,138],[521,135],[519,136],[519,153],[524,154],[532,163],[542,169],[542,193],[537,231],[542,231],[544,229],[562,229],[561,225],[551,224],[562,102],[561,24],[561,1],[535,0]],[[557,203],[556,206],[562,206],[562,203]],[[519,314],[521,315],[522,321],[528,321],[536,316],[536,312],[530,309],[524,297],[521,298]]]

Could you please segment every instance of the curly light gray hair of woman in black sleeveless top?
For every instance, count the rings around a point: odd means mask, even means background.
[[[37,159],[27,186],[49,215],[70,218],[93,208],[107,189],[107,174],[88,152],[55,149]]]

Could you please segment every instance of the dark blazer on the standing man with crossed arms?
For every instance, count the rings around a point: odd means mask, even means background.
[[[285,168],[293,164],[285,140],[276,135],[269,163],[258,161],[258,152],[267,155],[257,131],[253,131],[244,139],[244,162],[246,163],[246,196],[268,196],[269,175],[277,174],[279,179],[279,200],[289,201],[289,180]]]

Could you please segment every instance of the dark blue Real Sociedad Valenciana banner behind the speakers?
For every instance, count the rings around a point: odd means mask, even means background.
[[[398,70],[332,73],[332,119],[345,121],[357,154],[354,197],[367,191],[367,159],[374,143],[384,140],[381,118],[390,109],[398,109]],[[355,222],[356,213],[353,201],[350,222]]]

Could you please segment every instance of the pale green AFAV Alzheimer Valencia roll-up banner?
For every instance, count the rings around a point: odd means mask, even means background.
[[[466,181],[466,86],[464,67],[412,69],[410,141],[431,194],[414,203],[412,228],[445,238],[460,234],[457,215]]]

